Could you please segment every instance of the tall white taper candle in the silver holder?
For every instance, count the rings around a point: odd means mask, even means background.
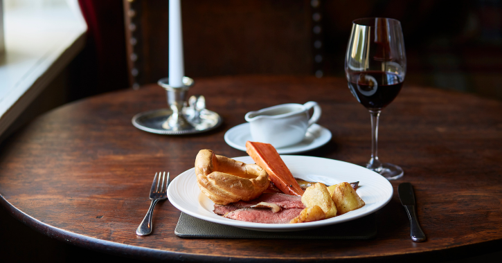
[[[183,87],[183,34],[181,32],[180,0],[169,0],[169,85]]]

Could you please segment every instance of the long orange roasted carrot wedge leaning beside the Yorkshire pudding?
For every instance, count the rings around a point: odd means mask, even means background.
[[[297,195],[301,197],[303,190],[289,171],[283,159],[280,158],[276,148],[269,143],[246,142],[246,152],[253,158],[256,164],[260,165],[269,179],[285,194]]]

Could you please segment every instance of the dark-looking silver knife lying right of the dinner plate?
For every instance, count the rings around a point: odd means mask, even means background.
[[[424,231],[420,228],[418,224],[417,213],[415,211],[415,193],[413,193],[413,186],[411,183],[401,183],[397,187],[397,192],[399,192],[399,199],[408,213],[408,218],[410,219],[410,232],[411,239],[414,242],[423,242],[425,239]]]

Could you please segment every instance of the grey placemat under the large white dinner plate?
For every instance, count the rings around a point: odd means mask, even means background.
[[[174,233],[178,237],[188,238],[370,239],[377,235],[377,221],[373,213],[345,223],[310,230],[262,232],[216,224],[181,212]]]

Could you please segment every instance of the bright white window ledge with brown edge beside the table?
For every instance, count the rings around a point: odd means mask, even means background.
[[[82,50],[86,30],[77,0],[3,0],[0,134]]]

